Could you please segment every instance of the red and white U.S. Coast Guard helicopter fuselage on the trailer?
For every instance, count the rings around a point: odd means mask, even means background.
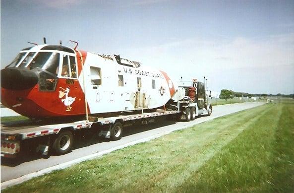
[[[165,71],[60,45],[21,50],[1,70],[1,103],[32,119],[164,106],[177,87]],[[176,98],[181,98],[176,96]]]

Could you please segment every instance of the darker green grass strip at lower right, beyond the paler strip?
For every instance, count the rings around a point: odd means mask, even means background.
[[[176,192],[294,192],[293,107],[257,117]]]

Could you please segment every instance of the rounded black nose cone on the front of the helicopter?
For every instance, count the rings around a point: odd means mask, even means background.
[[[38,75],[28,68],[11,67],[1,70],[2,88],[23,90],[35,86],[38,81]]]

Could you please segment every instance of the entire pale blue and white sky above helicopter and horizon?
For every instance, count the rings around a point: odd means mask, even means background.
[[[1,69],[27,42],[119,54],[208,89],[294,93],[294,0],[1,0]]]

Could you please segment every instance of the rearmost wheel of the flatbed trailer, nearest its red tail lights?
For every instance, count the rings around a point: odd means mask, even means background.
[[[68,153],[73,145],[73,135],[70,131],[59,133],[58,137],[54,140],[53,149],[59,154]]]

